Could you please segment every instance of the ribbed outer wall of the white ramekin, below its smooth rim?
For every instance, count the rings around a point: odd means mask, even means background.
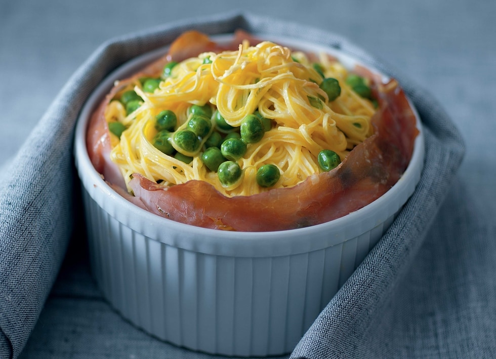
[[[161,243],[84,200],[91,267],[112,306],[162,340],[240,356],[290,352],[393,220],[325,249],[247,258]]]

